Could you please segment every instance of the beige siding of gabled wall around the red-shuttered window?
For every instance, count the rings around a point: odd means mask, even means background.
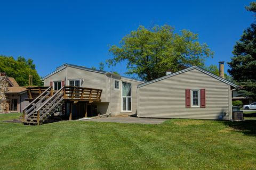
[[[206,108],[186,108],[185,89],[205,89]],[[228,84],[193,69],[138,88],[138,116],[228,120],[229,91]]]

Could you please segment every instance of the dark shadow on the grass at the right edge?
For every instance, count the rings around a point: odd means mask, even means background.
[[[246,120],[247,117],[250,118],[250,120]],[[244,114],[244,119],[245,121],[241,122],[225,121],[225,124],[245,135],[256,136],[256,113]]]

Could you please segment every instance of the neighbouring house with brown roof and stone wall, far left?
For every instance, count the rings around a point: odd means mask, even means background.
[[[20,87],[14,78],[6,77],[5,73],[1,73],[1,88],[5,89],[4,97],[2,95],[2,112],[21,112],[28,101],[27,89],[25,87]]]

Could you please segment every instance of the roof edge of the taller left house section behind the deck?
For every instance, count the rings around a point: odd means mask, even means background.
[[[114,74],[114,73],[111,73],[111,72],[106,72],[106,71],[101,71],[101,70],[96,70],[96,69],[90,69],[90,68],[85,67],[85,66],[79,66],[79,65],[75,65],[75,64],[65,63],[65,64],[63,64],[61,66],[58,66],[54,72],[52,72],[50,74],[47,74],[41,80],[49,78],[51,75],[53,75],[53,74],[55,74],[55,73],[65,69],[67,66],[74,67],[74,68],[77,68],[77,69],[86,70],[86,71],[97,72],[97,73],[101,73],[101,74]],[[124,77],[124,76],[121,76],[121,75],[118,75],[118,74],[114,74],[114,75],[117,75],[119,77],[123,77],[123,78],[126,78],[126,79],[131,79],[131,80],[134,80],[134,81],[145,82],[145,81],[142,81],[142,80],[137,80],[137,79],[133,79],[133,78]]]

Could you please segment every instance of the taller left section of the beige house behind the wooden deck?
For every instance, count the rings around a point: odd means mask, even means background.
[[[89,69],[84,66],[63,64],[52,73],[42,78],[44,86],[51,86],[57,91],[63,86],[75,86],[102,90],[101,100],[86,103],[78,101],[70,108],[66,102],[65,112],[70,109],[73,118],[95,116],[99,114],[135,114],[137,113],[137,86],[143,83],[111,72]],[[87,115],[84,113],[86,107]]]

